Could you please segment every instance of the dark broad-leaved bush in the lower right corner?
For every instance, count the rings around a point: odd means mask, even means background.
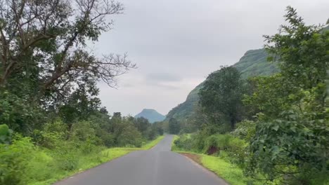
[[[316,112],[290,111],[283,112],[283,119],[258,123],[247,171],[259,169],[270,180],[285,174],[285,178],[310,184],[315,174],[329,167],[329,122],[322,116]]]

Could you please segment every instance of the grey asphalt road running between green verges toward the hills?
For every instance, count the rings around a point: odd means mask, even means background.
[[[170,151],[172,135],[153,149],[134,151],[56,185],[226,185],[215,174]]]

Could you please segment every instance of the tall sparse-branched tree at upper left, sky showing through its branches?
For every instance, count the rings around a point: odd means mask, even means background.
[[[115,86],[135,64],[125,54],[96,57],[86,43],[98,41],[122,11],[110,0],[0,0],[0,120],[29,133],[41,128],[39,114],[81,113],[67,104],[93,99],[97,81]]]

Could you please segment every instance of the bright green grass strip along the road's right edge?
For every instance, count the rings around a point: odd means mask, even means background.
[[[175,136],[172,142],[172,151],[181,153],[188,158],[191,158],[196,163],[199,163],[208,170],[214,172],[219,177],[224,179],[231,185],[245,185],[251,182],[251,179],[243,175],[243,170],[240,167],[230,163],[228,160],[217,156],[207,156],[201,153],[194,153],[191,151],[184,151],[179,149],[174,144],[174,140],[179,139],[179,136]],[[260,185],[259,182],[253,182],[254,185]]]

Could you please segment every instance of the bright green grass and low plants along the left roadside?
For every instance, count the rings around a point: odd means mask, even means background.
[[[52,184],[131,151],[150,149],[162,139],[157,137],[141,148],[105,149],[89,143],[93,149],[86,152],[85,142],[62,141],[49,150],[34,146],[30,138],[17,136],[10,145],[0,144],[0,184]]]

